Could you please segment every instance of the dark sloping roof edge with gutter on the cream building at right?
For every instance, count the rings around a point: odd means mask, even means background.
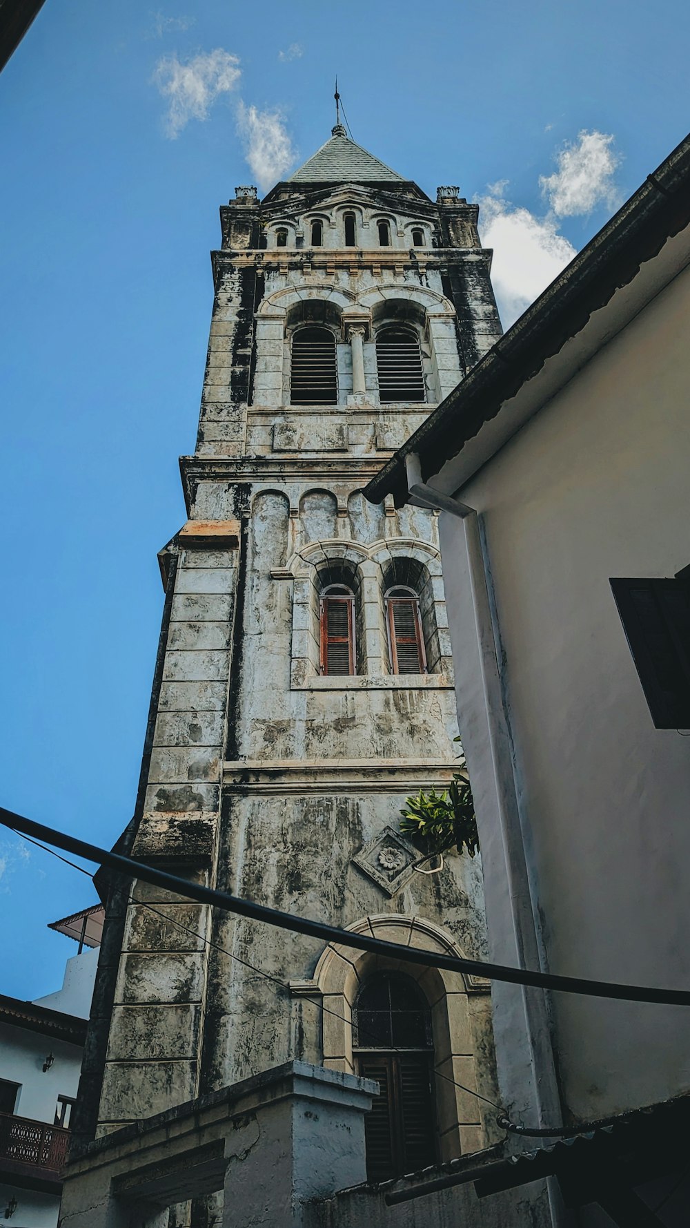
[[[365,488],[372,503],[393,495],[408,499],[405,457],[416,453],[420,476],[441,468],[440,457],[457,456],[505,402],[533,378],[604,307],[629,285],[642,264],[668,238],[690,223],[690,136],[594,236],[543,295],[476,363],[460,384],[427,418]]]

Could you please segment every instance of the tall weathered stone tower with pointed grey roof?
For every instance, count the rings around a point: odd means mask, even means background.
[[[398,826],[458,749],[436,517],[374,508],[361,489],[500,335],[476,219],[457,188],[433,203],[339,124],[263,200],[242,187],[221,209],[189,518],[161,553],[147,745],[119,846],[469,957],[484,950],[479,858],[420,873]],[[417,1049],[432,1142],[398,1140],[395,1163],[491,1138],[486,1106],[452,1082],[494,1087],[484,982],[344,959],[141,883],[131,900],[113,887],[102,952],[82,1141],[291,1059],[398,1078],[351,1020],[361,987],[404,995],[405,976],[431,1029]],[[377,1158],[367,1140],[383,1173],[388,1143]]]

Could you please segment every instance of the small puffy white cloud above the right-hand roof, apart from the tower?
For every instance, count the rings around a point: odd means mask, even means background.
[[[559,169],[540,176],[541,192],[557,217],[591,214],[597,205],[614,208],[614,172],[620,157],[613,144],[610,134],[583,130],[557,155]]]

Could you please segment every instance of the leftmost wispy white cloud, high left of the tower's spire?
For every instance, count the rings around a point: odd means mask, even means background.
[[[180,63],[177,53],[163,55],[153,81],[168,98],[166,134],[174,140],[190,119],[207,119],[209,109],[222,93],[236,88],[242,71],[239,59],[221,47]]]

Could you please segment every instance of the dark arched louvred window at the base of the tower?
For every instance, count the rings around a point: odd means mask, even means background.
[[[436,1160],[431,1013],[415,982],[378,973],[352,1013],[357,1074],[379,1086],[365,1117],[367,1178],[386,1181]]]

